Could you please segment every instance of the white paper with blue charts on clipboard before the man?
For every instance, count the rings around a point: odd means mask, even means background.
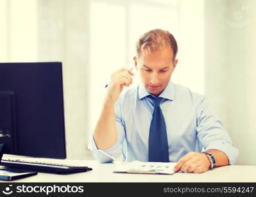
[[[175,173],[174,166],[177,163],[166,162],[123,162],[113,171],[113,173],[142,173],[142,174],[164,174]]]

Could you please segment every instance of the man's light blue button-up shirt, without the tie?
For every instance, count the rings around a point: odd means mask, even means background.
[[[125,162],[148,162],[148,135],[154,110],[148,95],[141,84],[119,96],[115,102],[117,141],[100,150],[92,137],[89,147],[96,160],[112,162],[121,152]],[[166,122],[170,162],[178,162],[188,152],[208,149],[224,152],[229,164],[236,162],[238,149],[205,96],[170,81],[159,97],[163,98],[160,108]]]

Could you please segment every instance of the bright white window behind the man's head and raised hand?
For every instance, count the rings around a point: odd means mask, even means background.
[[[90,2],[90,130],[98,121],[106,93],[105,85],[118,68],[133,67],[135,42],[155,28],[169,30],[177,38],[176,1]],[[139,83],[137,76],[134,84]]]

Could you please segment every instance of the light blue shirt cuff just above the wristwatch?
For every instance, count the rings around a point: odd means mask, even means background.
[[[229,164],[234,165],[236,162],[236,159],[238,158],[238,148],[234,147],[230,142],[224,142],[224,141],[214,141],[211,142],[205,150],[209,149],[216,149],[224,152],[226,156],[228,157]]]

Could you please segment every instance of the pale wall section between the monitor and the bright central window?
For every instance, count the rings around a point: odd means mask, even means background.
[[[38,0],[38,61],[63,62],[67,158],[91,158],[88,1]]]

